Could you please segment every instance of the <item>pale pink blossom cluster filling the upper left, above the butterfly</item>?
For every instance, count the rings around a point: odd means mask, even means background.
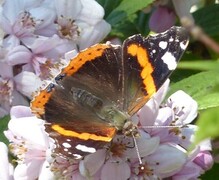
[[[0,117],[29,105],[60,58],[100,42],[110,25],[94,0],[6,0],[0,7]]]

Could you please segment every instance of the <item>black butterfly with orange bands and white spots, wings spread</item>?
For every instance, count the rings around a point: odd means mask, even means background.
[[[176,69],[188,39],[184,28],[172,27],[78,53],[31,103],[55,140],[54,152],[80,159],[117,133],[138,134],[131,117]]]

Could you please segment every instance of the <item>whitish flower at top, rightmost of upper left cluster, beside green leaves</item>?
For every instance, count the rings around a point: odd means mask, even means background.
[[[103,20],[104,9],[94,0],[55,1],[57,29],[62,38],[85,49],[100,42],[111,30]]]

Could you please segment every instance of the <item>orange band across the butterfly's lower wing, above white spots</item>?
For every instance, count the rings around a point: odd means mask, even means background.
[[[112,138],[114,137],[114,134],[116,133],[115,128],[110,128],[110,131],[108,132],[107,136],[99,136],[99,135],[90,134],[90,133],[77,133],[72,130],[66,130],[57,124],[52,125],[52,129],[64,136],[75,137],[75,138],[79,138],[83,140],[92,139],[94,141],[104,141],[104,142],[110,142]]]

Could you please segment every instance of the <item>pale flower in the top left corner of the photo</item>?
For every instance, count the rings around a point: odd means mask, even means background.
[[[55,19],[55,12],[42,6],[42,1],[23,0],[5,1],[1,11],[0,25],[11,41],[25,41],[34,36],[35,32],[43,31],[43,28],[51,29]],[[53,31],[54,32],[54,31]],[[39,33],[40,34],[40,33]]]

